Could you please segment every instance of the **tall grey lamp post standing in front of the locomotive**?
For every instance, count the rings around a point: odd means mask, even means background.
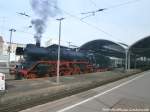
[[[59,84],[60,82],[60,79],[59,79],[59,67],[60,67],[60,38],[61,38],[61,21],[63,20],[64,18],[60,18],[60,19],[56,19],[59,21],[59,42],[58,42],[58,57],[57,57],[57,79],[56,79],[56,82],[57,84]]]

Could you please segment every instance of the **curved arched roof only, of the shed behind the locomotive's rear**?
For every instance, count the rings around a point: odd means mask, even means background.
[[[101,54],[109,57],[124,58],[125,48],[115,42],[98,39],[83,44],[79,50]]]

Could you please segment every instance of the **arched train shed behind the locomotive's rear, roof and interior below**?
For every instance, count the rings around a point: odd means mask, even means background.
[[[83,44],[79,50],[94,53],[97,64],[101,64],[99,59],[104,58],[101,61],[111,67],[124,67],[125,48],[119,43],[104,39],[92,40]]]

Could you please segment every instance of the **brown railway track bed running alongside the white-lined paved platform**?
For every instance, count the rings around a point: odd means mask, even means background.
[[[117,80],[120,80],[122,78],[125,77],[129,77],[131,75],[126,75],[126,76],[122,76],[122,77],[117,77],[114,79],[110,79],[109,81],[102,81],[102,82],[93,82],[92,84],[88,84],[86,86],[82,86],[82,87],[76,87],[74,89],[69,89],[69,90],[62,90],[59,92],[59,94],[53,94],[53,95],[47,95],[47,96],[42,96],[40,98],[36,98],[36,99],[32,99],[32,100],[26,100],[24,102],[21,103],[13,103],[10,102],[9,104],[0,104],[0,112],[18,112],[27,108],[31,108],[33,106],[37,106],[37,105],[41,105],[50,101],[54,101],[54,100],[58,100],[67,96],[71,96],[73,94],[77,94],[110,82],[114,82]]]

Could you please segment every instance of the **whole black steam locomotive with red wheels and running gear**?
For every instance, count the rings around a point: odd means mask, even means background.
[[[56,44],[48,47],[27,44],[24,49],[17,48],[16,55],[23,55],[24,57],[24,61],[14,69],[16,79],[57,75],[58,45]],[[104,67],[106,62],[108,62],[107,57],[89,51],[60,46],[60,75],[95,72],[98,70],[97,65],[101,64]]]

